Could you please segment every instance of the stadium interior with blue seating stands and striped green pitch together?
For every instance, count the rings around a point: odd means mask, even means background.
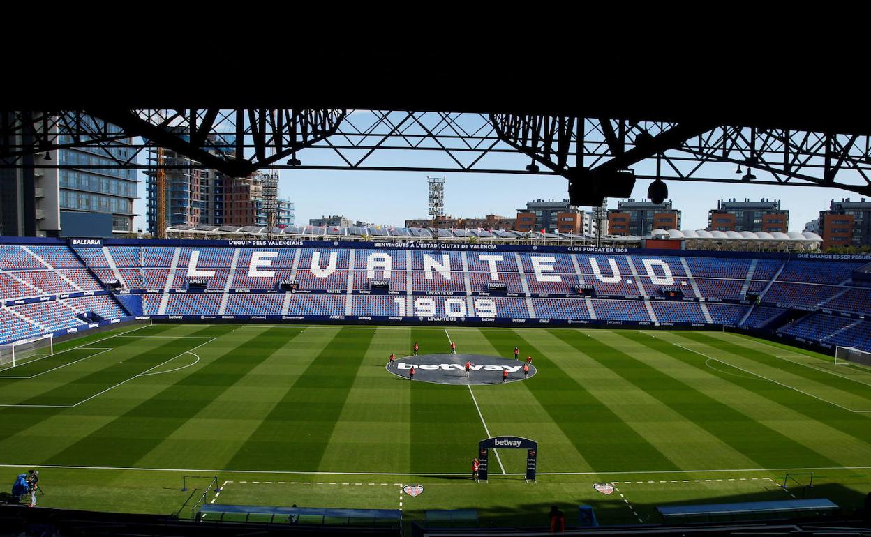
[[[0,245],[2,463],[37,505],[622,526],[871,487],[868,256],[233,242]]]

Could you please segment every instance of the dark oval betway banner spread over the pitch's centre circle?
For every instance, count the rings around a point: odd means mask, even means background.
[[[466,377],[466,362],[471,362],[469,377]],[[503,384],[503,372],[508,372],[504,383],[517,382],[536,374],[536,366],[530,364],[530,372],[524,376],[525,360],[487,356],[485,354],[421,354],[397,358],[388,372],[403,379],[411,378],[411,366],[415,367],[415,382],[434,384]]]

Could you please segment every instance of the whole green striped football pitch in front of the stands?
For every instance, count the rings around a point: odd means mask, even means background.
[[[506,359],[519,346],[537,374],[448,386],[388,373],[415,341]],[[522,450],[470,479],[478,441],[501,435],[538,442],[535,483]],[[202,502],[404,520],[474,508],[484,525],[526,526],[553,504],[569,524],[579,504],[604,524],[685,503],[850,509],[871,491],[871,368],[728,332],[127,326],[0,370],[0,463],[10,487],[40,471],[40,506],[179,517]],[[183,491],[185,476],[198,477]]]

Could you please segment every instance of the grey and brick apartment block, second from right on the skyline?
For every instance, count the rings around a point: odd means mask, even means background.
[[[780,199],[721,199],[708,211],[708,231],[786,233],[788,226],[789,211],[780,209]]]

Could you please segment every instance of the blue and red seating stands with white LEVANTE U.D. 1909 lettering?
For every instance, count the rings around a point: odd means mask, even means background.
[[[667,326],[871,350],[871,256],[5,238],[0,344],[131,319]]]

